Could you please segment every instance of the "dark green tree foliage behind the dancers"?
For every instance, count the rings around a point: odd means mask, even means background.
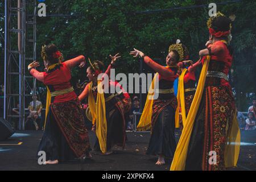
[[[191,59],[196,61],[199,58],[198,52],[205,47],[209,36],[206,25],[208,7],[155,13],[145,11],[207,5],[210,2],[212,1],[47,0],[48,16],[37,19],[38,55],[42,44],[55,43],[64,53],[65,59],[82,54],[92,60],[102,60],[108,65],[109,54],[119,52],[122,58],[118,60],[117,72],[133,73],[139,72],[138,60],[129,55],[133,48],[140,49],[152,58],[164,60],[170,44],[180,39],[189,48]],[[217,5],[218,11],[228,16],[236,15],[232,29],[232,86],[241,110],[246,110],[249,104],[246,98],[256,90],[255,9],[256,2],[246,0]],[[63,16],[50,16],[51,14]],[[84,80],[85,68],[75,69],[73,76]]]

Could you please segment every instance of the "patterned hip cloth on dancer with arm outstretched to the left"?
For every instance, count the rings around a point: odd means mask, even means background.
[[[154,128],[154,124],[156,122],[156,119],[158,118],[158,115],[161,113],[161,111],[166,108],[166,106],[171,105],[174,109],[177,107],[177,99],[176,97],[172,97],[170,100],[154,100],[153,103],[153,114],[152,114],[152,127],[151,131]]]

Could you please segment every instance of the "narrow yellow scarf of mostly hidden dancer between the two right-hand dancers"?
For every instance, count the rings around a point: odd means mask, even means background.
[[[186,110],[185,110],[185,92],[184,92],[184,76],[187,72],[187,69],[183,69],[181,72],[181,75],[179,76],[179,83],[178,83],[178,89],[177,89],[177,109],[175,113],[175,127],[179,127],[179,107],[181,106],[181,116],[182,116],[182,122],[184,126],[184,122],[186,121]]]

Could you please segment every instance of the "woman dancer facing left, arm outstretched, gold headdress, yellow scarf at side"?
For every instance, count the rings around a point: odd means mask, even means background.
[[[156,165],[165,164],[164,157],[174,156],[175,142],[175,110],[177,100],[174,95],[174,80],[177,76],[177,63],[184,59],[182,44],[173,44],[169,48],[166,57],[166,67],[155,63],[143,52],[134,49],[130,55],[141,56],[144,62],[158,72],[151,84],[148,92],[146,105],[139,121],[137,130],[145,131],[151,129],[150,143],[147,148],[148,155],[158,155]],[[152,100],[152,89],[155,89],[155,80],[159,80],[159,97]],[[156,80],[157,81],[157,80]],[[150,98],[151,97],[151,98]]]

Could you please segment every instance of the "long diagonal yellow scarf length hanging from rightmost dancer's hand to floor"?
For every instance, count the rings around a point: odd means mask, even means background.
[[[209,66],[210,56],[204,61],[204,65],[200,74],[199,82],[197,85],[195,97],[193,98],[191,107],[189,109],[187,119],[184,122],[184,128],[180,136],[179,143],[174,154],[174,159],[171,164],[171,171],[183,171],[185,169],[185,160],[187,158],[188,145],[191,137],[193,124],[195,122],[197,110],[201,102],[201,97],[204,92],[205,78]]]

